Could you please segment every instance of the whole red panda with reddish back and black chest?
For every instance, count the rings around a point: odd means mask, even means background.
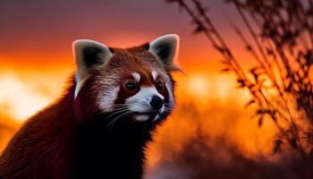
[[[174,107],[179,38],[139,47],[73,42],[77,71],[53,105],[22,125],[0,157],[0,178],[133,178]]]

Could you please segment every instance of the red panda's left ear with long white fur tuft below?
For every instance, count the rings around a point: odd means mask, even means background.
[[[86,51],[88,50],[88,51]],[[112,56],[106,45],[90,39],[78,39],[72,43],[72,52],[77,65],[75,98],[88,79],[88,69],[93,63],[104,64]],[[91,62],[90,62],[91,61]],[[92,62],[94,61],[94,62]]]

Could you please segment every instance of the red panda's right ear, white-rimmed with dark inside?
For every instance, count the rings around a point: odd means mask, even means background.
[[[149,43],[148,51],[165,64],[165,69],[169,72],[183,72],[180,66],[175,63],[179,51],[179,36],[168,34],[154,39]]]

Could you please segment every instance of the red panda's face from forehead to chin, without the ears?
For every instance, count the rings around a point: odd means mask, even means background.
[[[116,50],[110,61],[92,72],[91,89],[104,112],[157,121],[174,106],[173,82],[165,66],[147,50]]]

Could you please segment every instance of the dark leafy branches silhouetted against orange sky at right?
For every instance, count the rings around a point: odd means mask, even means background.
[[[203,33],[224,57],[223,72],[237,76],[238,87],[250,91],[247,107],[258,106],[258,125],[267,115],[279,132],[274,153],[295,157],[311,155],[313,126],[313,2],[298,0],[227,0],[237,10],[245,27],[229,20],[253,56],[255,66],[246,72],[233,50],[207,15],[199,0],[168,0],[185,10],[195,24],[194,33]],[[250,40],[242,33],[249,31]]]

